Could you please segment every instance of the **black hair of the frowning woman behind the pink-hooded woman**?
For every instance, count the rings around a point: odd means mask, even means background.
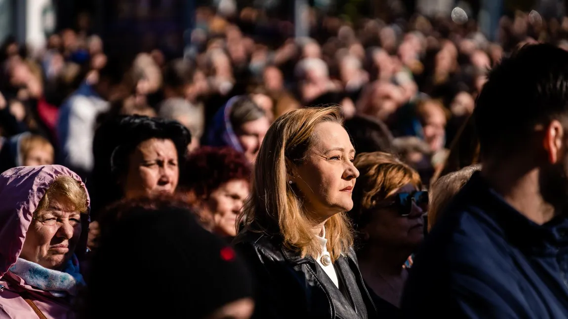
[[[183,169],[181,163],[185,161],[191,134],[177,121],[139,115],[117,116],[103,122],[95,131],[95,163],[89,188],[93,197],[93,220],[97,219],[99,210],[122,198],[118,181],[128,171],[128,158],[136,146],[152,138],[170,139],[176,146],[179,169]]]

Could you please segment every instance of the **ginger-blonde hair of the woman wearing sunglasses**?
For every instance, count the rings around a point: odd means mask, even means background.
[[[359,177],[353,189],[351,217],[364,227],[366,211],[407,184],[422,188],[420,175],[394,155],[385,152],[362,153],[354,163]]]

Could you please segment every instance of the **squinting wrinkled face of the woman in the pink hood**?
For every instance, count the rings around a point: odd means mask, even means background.
[[[64,198],[53,198],[32,219],[20,258],[61,270],[81,236],[81,213]]]

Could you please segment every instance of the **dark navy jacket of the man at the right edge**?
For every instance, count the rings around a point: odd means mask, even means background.
[[[404,317],[568,318],[568,220],[539,226],[475,173],[417,253]]]

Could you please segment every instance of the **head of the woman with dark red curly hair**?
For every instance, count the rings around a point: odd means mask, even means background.
[[[250,193],[252,171],[245,155],[204,146],[191,153],[185,168],[181,186],[198,203],[202,222],[220,236],[235,237],[237,216]]]

